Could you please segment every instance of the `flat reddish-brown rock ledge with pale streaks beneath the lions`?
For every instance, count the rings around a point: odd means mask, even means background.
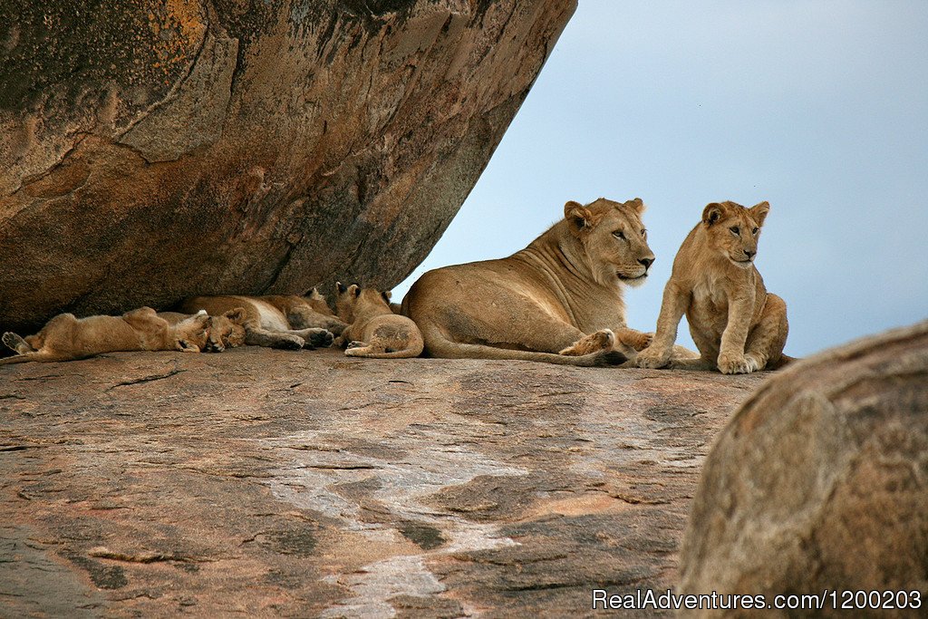
[[[593,588],[673,586],[702,460],[764,380],[258,348],[0,368],[0,606],[593,614]]]

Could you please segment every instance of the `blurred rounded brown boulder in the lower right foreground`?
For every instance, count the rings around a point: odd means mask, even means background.
[[[706,460],[680,561],[683,593],[774,603],[837,591],[840,604],[842,591],[915,591],[924,616],[928,322],[798,363],[754,393]],[[890,597],[912,612],[911,595]]]

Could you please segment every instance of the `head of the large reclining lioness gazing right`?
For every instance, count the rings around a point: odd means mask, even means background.
[[[640,198],[623,203],[600,198],[586,206],[574,200],[564,204],[564,219],[580,241],[586,263],[599,284],[623,281],[638,286],[648,277],[654,253],[641,223],[644,209]]]

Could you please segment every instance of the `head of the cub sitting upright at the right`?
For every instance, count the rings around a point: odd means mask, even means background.
[[[709,246],[728,260],[748,268],[757,255],[757,239],[770,205],[764,201],[750,209],[735,202],[712,202],[702,210],[702,226]]]

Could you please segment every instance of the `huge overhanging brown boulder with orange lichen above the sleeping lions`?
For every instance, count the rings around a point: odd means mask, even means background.
[[[575,5],[3,3],[0,328],[336,277],[393,286]]]

